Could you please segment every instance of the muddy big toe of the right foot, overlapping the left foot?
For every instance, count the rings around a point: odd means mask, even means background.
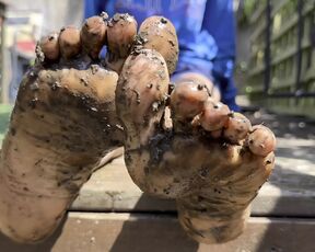
[[[144,131],[160,124],[168,83],[166,64],[158,51],[142,49],[127,58],[116,89],[116,108],[128,134],[136,131],[147,139]]]

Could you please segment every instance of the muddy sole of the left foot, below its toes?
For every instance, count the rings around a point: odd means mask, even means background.
[[[34,69],[25,77],[1,152],[2,232],[22,241],[50,233],[100,159],[121,145],[116,81],[101,68]]]

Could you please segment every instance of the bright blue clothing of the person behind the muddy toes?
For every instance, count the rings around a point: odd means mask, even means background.
[[[235,104],[233,82],[235,32],[233,0],[85,0],[85,16],[106,11],[129,13],[141,24],[150,15],[170,19],[177,32],[179,58],[175,73],[200,72],[220,89],[231,110]]]

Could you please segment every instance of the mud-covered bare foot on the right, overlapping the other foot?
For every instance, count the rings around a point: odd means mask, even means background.
[[[170,99],[168,82],[159,53],[127,58],[116,91],[126,165],[143,192],[177,199],[190,237],[226,242],[242,233],[249,203],[273,168],[276,138],[213,100],[199,78],[177,81]],[[165,127],[167,103],[173,127]]]

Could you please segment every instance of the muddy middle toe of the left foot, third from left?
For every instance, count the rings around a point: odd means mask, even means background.
[[[92,58],[97,59],[106,41],[107,14],[94,15],[85,20],[81,28],[81,42],[83,50]]]

